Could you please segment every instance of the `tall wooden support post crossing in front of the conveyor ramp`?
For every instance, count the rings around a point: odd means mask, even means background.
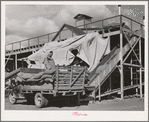
[[[123,74],[122,15],[120,15],[120,84],[121,84],[121,99],[123,99],[124,98],[124,74]]]

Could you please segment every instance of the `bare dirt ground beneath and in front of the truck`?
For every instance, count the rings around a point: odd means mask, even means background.
[[[33,104],[27,104],[26,100],[19,100],[15,105],[9,103],[5,98],[5,110],[98,110],[98,111],[143,111],[144,98],[125,97],[123,100],[119,98],[102,100],[101,102],[83,102],[80,105],[66,105],[62,101],[54,101],[44,108],[37,108]]]

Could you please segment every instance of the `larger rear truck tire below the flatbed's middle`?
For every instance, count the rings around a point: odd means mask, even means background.
[[[36,107],[38,108],[45,107],[48,103],[48,100],[41,93],[35,94],[34,101],[35,101]]]

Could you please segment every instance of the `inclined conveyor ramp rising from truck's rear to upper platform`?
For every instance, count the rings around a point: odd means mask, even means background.
[[[133,46],[138,41],[130,40],[130,45]],[[130,45],[127,43],[123,47],[123,56],[130,50]],[[99,85],[101,86],[106,79],[117,68],[117,64],[120,61],[120,48],[115,47],[111,53],[97,65],[97,67],[91,72],[89,77],[89,83],[86,85],[86,89],[90,91],[97,91]]]

